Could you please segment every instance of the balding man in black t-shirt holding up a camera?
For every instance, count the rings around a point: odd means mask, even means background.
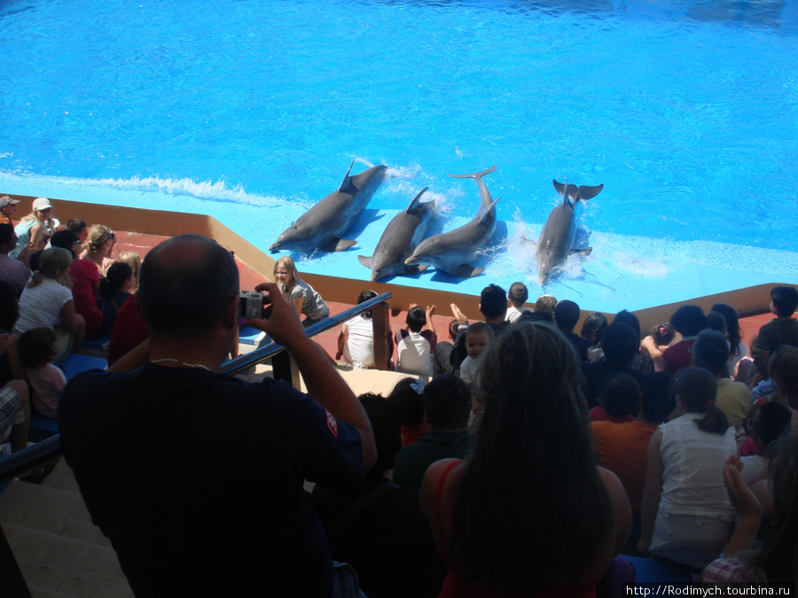
[[[134,593],[330,595],[302,483],[346,488],[372,468],[363,408],[270,283],[249,324],[286,346],[312,397],[218,373],[238,335],[239,273],[214,241],[158,245],[140,284],[150,361],[78,375],[59,406],[66,462]]]

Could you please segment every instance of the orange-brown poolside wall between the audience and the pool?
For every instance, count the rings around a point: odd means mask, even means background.
[[[34,198],[31,196],[20,196],[14,193],[0,192],[0,197],[11,195],[12,198],[19,199],[17,206],[17,216],[23,217],[30,214],[31,204]],[[126,230],[129,232],[145,233],[149,235],[162,235],[174,237],[186,233],[194,233],[205,237],[214,238],[218,243],[229,247],[236,253],[239,260],[246,263],[263,276],[271,276],[274,269],[274,258],[269,253],[239,237],[236,233],[228,229],[222,222],[217,221],[211,216],[203,214],[186,214],[179,212],[168,212],[166,210],[149,210],[133,207],[105,206],[103,204],[92,204],[83,202],[68,201],[65,199],[51,198],[51,203],[55,214],[66,219],[74,215],[89,224],[102,223],[112,229]],[[476,318],[479,315],[479,297],[455,293],[449,291],[438,291],[425,289],[423,287],[407,287],[391,283],[369,283],[356,282],[349,279],[338,278],[335,276],[322,276],[315,274],[302,274],[302,278],[319,291],[325,299],[338,303],[353,304],[356,295],[362,288],[371,288],[379,293],[390,292],[393,298],[389,304],[393,309],[407,309],[411,303],[418,303],[422,306],[436,305],[438,315],[450,314],[450,303],[456,303],[466,315]],[[490,281],[486,280],[485,284]],[[669,303],[656,307],[635,310],[635,315],[640,320],[642,330],[648,330],[659,322],[668,322],[670,316],[678,307],[683,305],[698,305],[708,311],[715,303],[728,303],[737,308],[740,315],[755,315],[768,311],[770,304],[771,288],[779,283],[759,284],[746,289],[727,291],[716,295],[707,295],[695,299]],[[798,288],[796,285],[791,285]],[[590,315],[590,306],[582,306],[582,319]],[[612,320],[612,315],[607,315]],[[581,327],[581,321],[577,324],[577,330]]]

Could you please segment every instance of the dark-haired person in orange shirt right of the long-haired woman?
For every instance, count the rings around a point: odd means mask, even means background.
[[[636,524],[640,521],[640,501],[645,485],[648,443],[659,426],[676,407],[673,377],[653,374],[640,394],[638,416],[630,423],[592,422],[593,444],[599,465],[621,480]]]

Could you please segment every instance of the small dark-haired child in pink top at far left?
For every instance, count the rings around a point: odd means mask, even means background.
[[[33,405],[41,415],[55,419],[66,377],[51,361],[58,354],[56,335],[51,328],[27,330],[20,338],[20,361],[27,369],[27,380],[33,391]]]

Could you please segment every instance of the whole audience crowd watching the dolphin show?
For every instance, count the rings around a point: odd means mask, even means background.
[[[0,198],[0,440],[19,451],[32,413],[58,417],[137,595],[617,595],[622,555],[796,586],[794,287],[750,339],[725,304],[645,331],[597,312],[577,334],[573,300],[529,306],[520,282],[485,287],[475,320],[451,304],[445,339],[434,305],[395,335],[369,311],[335,360],[375,368],[385,340],[407,376],[356,398],[303,331],[329,308],[280,258],[247,323],[292,351],[303,395],[218,373],[241,323],[220,245],[174,237],[142,261],[47,198],[15,227],[17,203]],[[67,382],[60,361],[92,338],[108,371]]]

